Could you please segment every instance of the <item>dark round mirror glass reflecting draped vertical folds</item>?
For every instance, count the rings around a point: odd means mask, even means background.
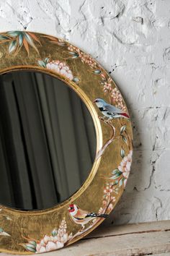
[[[0,204],[50,208],[73,195],[96,151],[88,109],[64,82],[38,72],[0,76]]]

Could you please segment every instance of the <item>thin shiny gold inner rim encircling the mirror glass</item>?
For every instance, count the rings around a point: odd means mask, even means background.
[[[58,78],[59,80],[65,82],[69,88],[72,88],[75,91],[75,93],[79,95],[81,100],[85,103],[86,107],[88,108],[88,110],[91,114],[91,118],[94,122],[96,138],[97,138],[97,149],[96,149],[96,155],[97,155],[97,152],[99,152],[99,149],[102,148],[102,127],[99,122],[97,111],[95,110],[93,104],[89,100],[89,97],[86,95],[86,93],[84,93],[84,91],[81,90],[81,88],[79,88],[78,85],[76,85],[71,80],[68,80],[66,77],[63,77],[61,74],[58,74],[56,72],[53,72],[51,70],[48,70],[48,69],[45,69],[42,67],[35,67],[33,65],[13,66],[13,67],[10,67],[7,69],[1,69],[0,74],[5,74],[5,73],[9,73],[9,72],[17,72],[19,70],[37,71],[37,72],[42,72],[42,73],[51,75],[52,77]],[[95,157],[93,166],[89,173],[89,176],[86,178],[86,181],[84,182],[84,184],[81,185],[79,190],[77,192],[75,192],[67,200],[64,200],[63,202],[59,203],[58,205],[55,205],[52,208],[46,208],[43,210],[27,210],[27,211],[9,208],[4,205],[3,205],[3,208],[8,210],[9,212],[17,212],[17,213],[22,213],[24,215],[41,215],[44,213],[51,213],[59,208],[63,208],[65,205],[68,204],[68,202],[75,201],[78,197],[80,197],[80,195],[86,190],[86,188],[89,187],[89,184],[91,184],[92,180],[94,179],[94,176],[97,173],[97,169],[99,168],[100,159],[101,158],[96,159],[96,157]]]

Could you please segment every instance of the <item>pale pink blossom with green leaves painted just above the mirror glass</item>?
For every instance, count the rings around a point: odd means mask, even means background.
[[[58,60],[51,61],[50,58],[45,58],[43,60],[39,60],[38,64],[40,67],[45,67],[46,69],[50,69],[53,72],[63,75],[63,77],[66,77],[73,82],[79,82],[79,79],[76,77],[73,77],[73,73],[71,69],[63,61],[58,61]]]

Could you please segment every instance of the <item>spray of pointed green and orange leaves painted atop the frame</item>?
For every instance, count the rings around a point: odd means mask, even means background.
[[[37,35],[30,32],[24,31],[9,31],[0,35],[0,43],[8,43],[8,52],[9,54],[18,54],[20,48],[24,46],[27,54],[29,55],[29,46],[37,51],[37,46],[35,46],[36,41],[40,45],[40,40],[37,38]]]

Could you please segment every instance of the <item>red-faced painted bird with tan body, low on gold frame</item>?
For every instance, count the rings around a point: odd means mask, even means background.
[[[84,226],[94,218],[107,218],[108,216],[108,214],[89,213],[86,210],[81,210],[77,205],[69,205],[68,211],[72,220],[81,225],[81,229],[84,229]]]

